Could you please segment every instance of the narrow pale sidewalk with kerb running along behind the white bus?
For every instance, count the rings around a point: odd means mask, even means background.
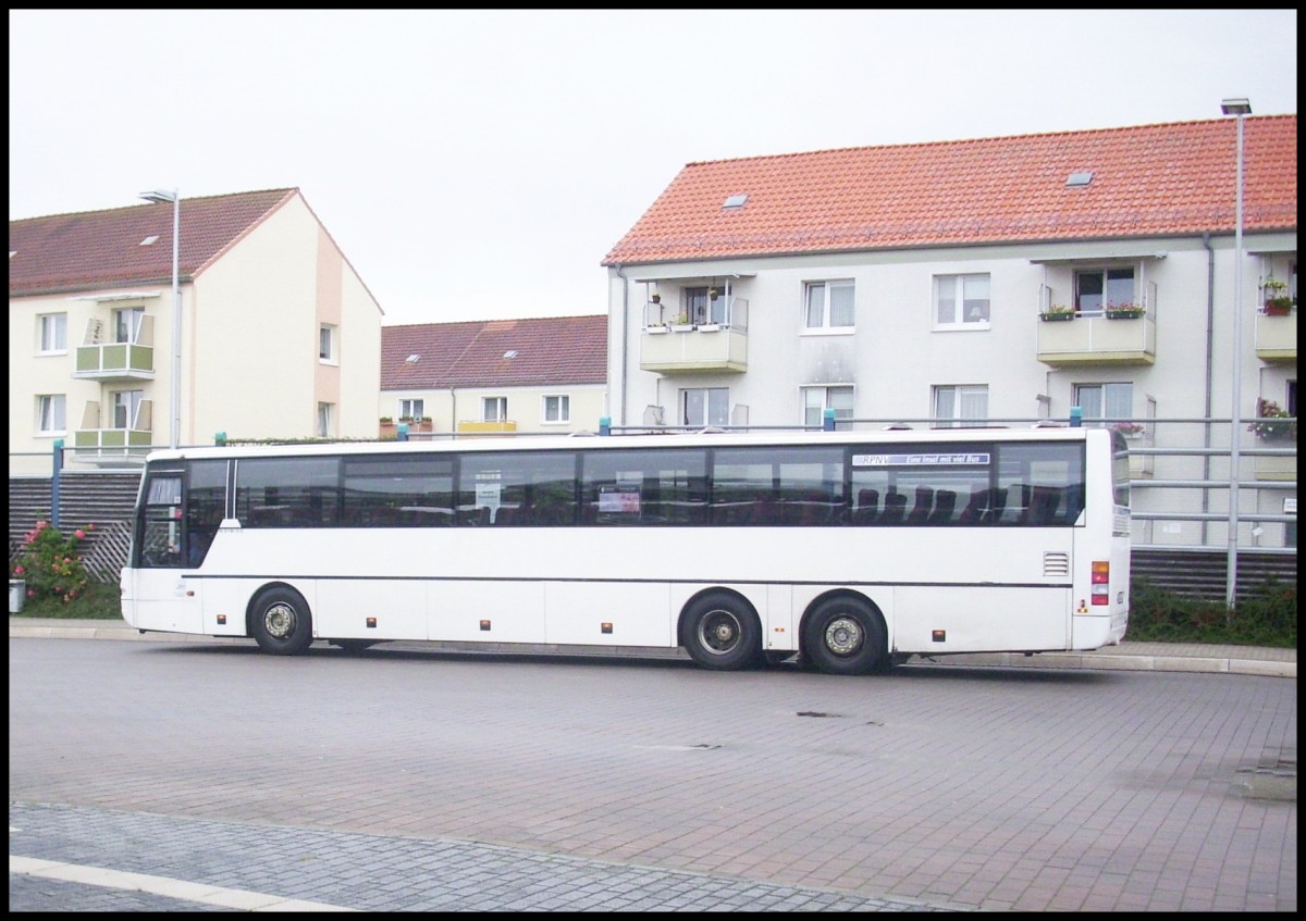
[[[227,637],[189,637],[175,633],[142,634],[121,618],[78,621],[50,617],[9,616],[9,639],[145,639],[149,642],[184,643],[253,643],[252,639]],[[397,644],[397,643],[396,643]],[[660,656],[678,654],[673,650],[643,650],[631,647],[590,646],[511,646],[487,647],[483,643],[413,643],[406,646],[427,650],[507,652],[529,655],[643,655]],[[1277,678],[1297,677],[1297,650],[1271,646],[1212,646],[1205,643],[1131,643],[1109,646],[1093,652],[972,652],[939,659],[916,657],[912,664],[929,665],[990,665],[1004,668],[1088,668],[1132,672],[1221,672],[1229,674],[1260,674]]]

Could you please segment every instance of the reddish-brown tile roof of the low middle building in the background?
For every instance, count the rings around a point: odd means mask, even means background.
[[[504,357],[516,351],[512,357]],[[417,355],[415,361],[407,361]],[[381,327],[381,390],[607,381],[607,317],[532,317]]]

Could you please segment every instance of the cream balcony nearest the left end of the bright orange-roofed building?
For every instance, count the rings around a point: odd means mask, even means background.
[[[649,303],[640,333],[640,369],[661,373],[684,370],[748,370],[748,301],[724,297],[721,309],[699,318],[661,317],[661,305]],[[678,322],[679,321],[679,322]]]

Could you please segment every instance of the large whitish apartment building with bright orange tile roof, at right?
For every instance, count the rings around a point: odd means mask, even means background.
[[[1228,489],[1175,484],[1228,477],[1228,455],[1147,450],[1228,451],[1237,367],[1239,446],[1279,453],[1243,458],[1239,543],[1296,547],[1296,436],[1250,425],[1263,400],[1297,414],[1297,117],[1243,119],[1235,291],[1237,128],[690,163],[602,260],[613,424],[1021,425],[1079,407],[1140,449],[1136,545],[1218,547],[1226,527],[1182,515],[1217,515]]]

